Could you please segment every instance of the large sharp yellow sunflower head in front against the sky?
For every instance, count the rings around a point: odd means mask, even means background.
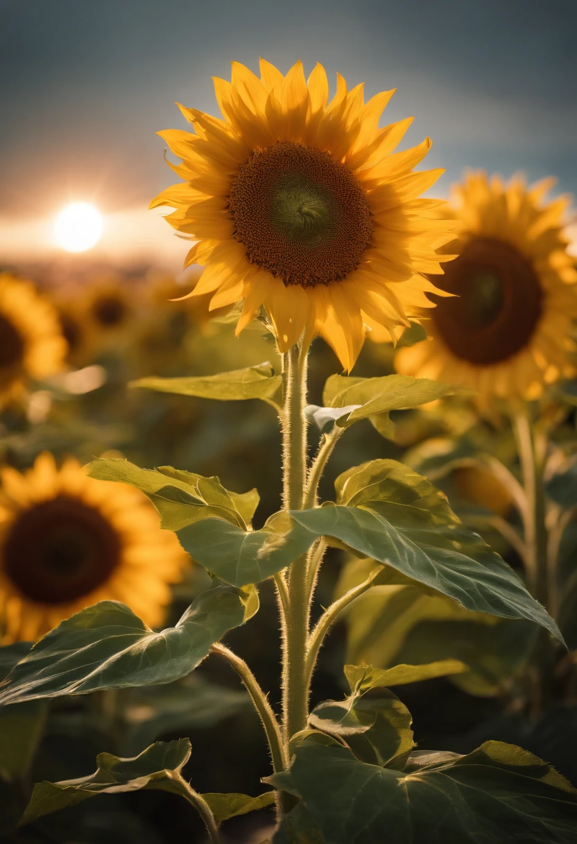
[[[214,87],[223,119],[179,106],[195,133],[159,133],[185,181],[151,208],[174,208],[170,225],[197,241],[185,266],[205,268],[189,295],[210,293],[211,309],[244,300],[237,335],[264,307],[281,351],[320,333],[350,370],[367,326],[395,335],[432,306],[421,273],[449,259],[435,252],[452,236],[441,203],[418,198],[443,170],[412,172],[431,142],[393,154],[411,124],[378,127],[394,91],[364,103],[337,74],[329,103],[320,64],[307,82],[301,62],[283,76],[261,60],[261,78],[233,62]]]

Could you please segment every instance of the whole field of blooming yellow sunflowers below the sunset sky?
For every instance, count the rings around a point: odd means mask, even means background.
[[[571,844],[570,197],[214,93],[184,272],[0,251],[0,842]]]

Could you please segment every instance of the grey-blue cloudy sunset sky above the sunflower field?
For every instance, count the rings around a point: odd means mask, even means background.
[[[433,139],[439,196],[465,167],[577,194],[575,45],[575,0],[0,0],[0,262],[74,200],[107,215],[112,252],[181,256],[146,212],[175,181],[155,133],[186,128],[175,100],[214,113],[211,77],[259,55],[396,88],[386,122]]]

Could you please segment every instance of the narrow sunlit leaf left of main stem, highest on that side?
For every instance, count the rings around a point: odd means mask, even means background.
[[[139,378],[131,381],[130,387],[144,387],[157,392],[175,392],[180,396],[215,398],[220,402],[238,401],[245,398],[261,398],[263,402],[278,408],[278,393],[283,383],[282,376],[275,375],[268,362],[231,372],[220,372],[191,378]]]

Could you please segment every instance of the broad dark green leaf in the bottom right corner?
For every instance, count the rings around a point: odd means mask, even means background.
[[[574,841],[577,793],[536,756],[488,742],[467,756],[425,759],[414,772],[394,771],[305,739],[294,746],[288,775],[268,782],[301,798],[327,844]]]

